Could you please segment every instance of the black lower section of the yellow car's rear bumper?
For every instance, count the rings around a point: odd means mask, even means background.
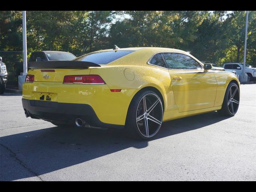
[[[123,125],[101,122],[93,108],[88,104],[49,102],[23,98],[22,106],[31,118],[49,122],[55,121],[74,124],[76,118],[81,118],[92,127],[124,128]]]

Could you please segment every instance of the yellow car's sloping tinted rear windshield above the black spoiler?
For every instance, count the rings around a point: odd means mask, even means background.
[[[108,64],[132,52],[134,51],[104,51],[104,52],[89,53],[74,59],[74,61],[87,61],[87,62],[92,62],[96,64]]]

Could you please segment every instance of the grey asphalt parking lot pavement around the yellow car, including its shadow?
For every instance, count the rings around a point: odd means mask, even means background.
[[[5,93],[0,180],[256,180],[256,84],[240,89],[236,116],[164,122],[151,141],[26,118],[22,95]]]

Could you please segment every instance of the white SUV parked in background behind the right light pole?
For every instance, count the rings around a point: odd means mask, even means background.
[[[223,68],[232,69],[238,75],[242,75],[243,73],[243,63],[225,63]],[[256,78],[256,68],[253,68],[251,65],[245,64],[245,72],[248,75],[247,81],[252,81],[253,78]]]

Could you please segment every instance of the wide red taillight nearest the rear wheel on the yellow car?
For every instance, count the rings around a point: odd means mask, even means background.
[[[64,76],[65,84],[106,84],[99,75],[67,75]]]

